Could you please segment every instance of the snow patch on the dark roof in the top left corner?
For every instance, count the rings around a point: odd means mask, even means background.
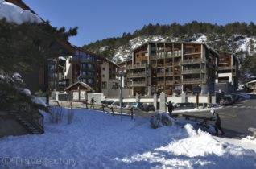
[[[6,18],[10,23],[41,23],[42,19],[38,15],[31,13],[30,10],[23,10],[13,3],[0,0],[0,19]]]

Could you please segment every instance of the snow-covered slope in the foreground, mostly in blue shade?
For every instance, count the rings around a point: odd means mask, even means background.
[[[121,120],[120,116],[82,109],[74,111],[68,125],[67,114],[64,109],[60,124],[51,123],[45,115],[43,135],[0,139],[0,157],[10,159],[0,163],[0,168],[256,167],[254,150],[218,142],[191,125],[154,130],[147,119]],[[35,159],[42,161],[35,163]]]

